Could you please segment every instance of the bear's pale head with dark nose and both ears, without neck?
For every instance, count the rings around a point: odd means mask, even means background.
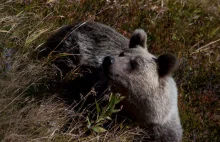
[[[147,50],[147,34],[137,29],[131,36],[129,48],[118,56],[105,57],[103,69],[105,75],[115,86],[124,91],[135,92],[146,88],[152,92],[160,86],[160,80],[171,76],[177,66],[177,59],[173,54],[166,53],[158,58]],[[134,90],[133,90],[134,89]]]

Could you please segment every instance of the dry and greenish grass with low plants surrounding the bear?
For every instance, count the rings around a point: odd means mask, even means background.
[[[88,124],[96,125],[98,116],[111,103],[106,107],[94,103],[93,113],[75,111],[74,105],[67,106],[56,92],[46,91],[46,82],[53,79],[53,67],[36,60],[37,48],[60,27],[87,20],[110,25],[126,37],[134,29],[143,28],[148,32],[148,48],[152,53],[176,54],[180,60],[175,80],[183,141],[220,141],[217,0],[2,0],[2,141],[131,141],[136,136],[147,137],[132,123],[117,121],[113,111],[108,114],[111,120],[105,116],[94,131]]]

